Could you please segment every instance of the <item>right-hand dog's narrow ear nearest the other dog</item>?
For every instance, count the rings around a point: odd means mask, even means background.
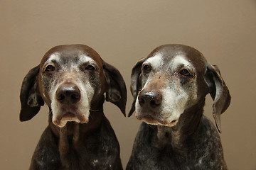
[[[139,94],[139,91],[142,90],[142,84],[140,84],[140,77],[142,74],[142,63],[146,60],[146,58],[142,58],[141,60],[139,60],[135,66],[132,68],[132,76],[131,76],[131,92],[132,92],[132,96],[134,97],[134,101],[132,102],[132,108],[129,111],[129,115],[128,117],[130,117],[132,115],[132,113],[134,113],[135,111],[135,102],[136,102],[136,98]]]

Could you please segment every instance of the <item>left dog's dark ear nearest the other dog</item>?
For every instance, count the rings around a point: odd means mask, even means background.
[[[107,62],[102,61],[103,72],[107,81],[106,101],[114,103],[125,116],[127,88],[120,72]]]

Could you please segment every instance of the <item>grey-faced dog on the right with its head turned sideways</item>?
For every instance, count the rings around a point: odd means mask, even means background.
[[[227,169],[220,143],[220,114],[230,94],[218,67],[186,45],[162,45],[132,69],[134,103],[142,120],[129,169]],[[218,130],[203,115],[213,98]]]

